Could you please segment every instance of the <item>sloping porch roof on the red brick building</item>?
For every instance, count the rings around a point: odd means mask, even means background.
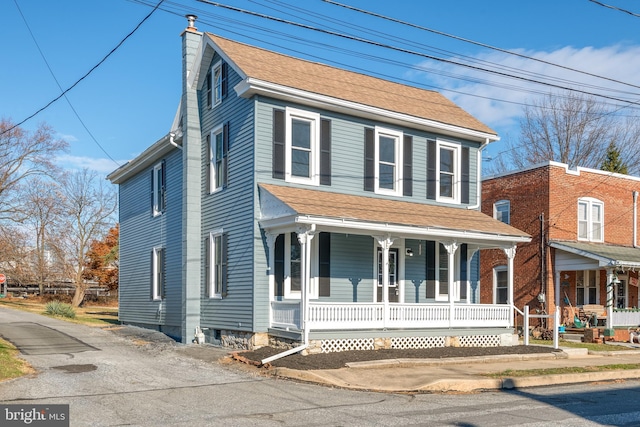
[[[600,267],[640,268],[640,248],[560,240],[552,240],[549,245],[552,248],[595,260]]]

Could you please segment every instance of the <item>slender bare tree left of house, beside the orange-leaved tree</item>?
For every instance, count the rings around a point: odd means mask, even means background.
[[[115,223],[116,193],[88,169],[65,176],[61,188],[64,233],[58,236],[58,249],[66,275],[75,285],[72,305],[77,307],[89,288],[84,269],[91,242],[101,239]]]

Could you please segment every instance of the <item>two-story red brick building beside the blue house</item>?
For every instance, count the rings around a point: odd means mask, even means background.
[[[514,305],[638,307],[638,192],[638,177],[555,162],[483,180],[482,212],[532,237],[516,250]],[[480,259],[480,302],[508,302],[505,253]]]

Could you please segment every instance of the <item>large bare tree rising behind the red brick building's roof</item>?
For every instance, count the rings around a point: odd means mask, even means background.
[[[620,148],[625,163],[637,164],[639,140],[638,124],[621,120],[615,110],[596,98],[550,93],[524,108],[520,140],[509,144],[506,155],[488,171],[505,172],[546,161],[598,169],[612,142]]]

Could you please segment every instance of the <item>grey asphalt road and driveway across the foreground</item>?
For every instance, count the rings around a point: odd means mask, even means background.
[[[107,331],[0,308],[0,333],[17,326],[23,334],[57,331],[80,347],[54,350],[54,340],[45,353],[25,354],[38,373],[0,383],[0,403],[69,404],[74,427],[640,425],[637,381],[372,393],[258,376],[217,362],[226,354],[221,349],[183,346],[139,328]]]

